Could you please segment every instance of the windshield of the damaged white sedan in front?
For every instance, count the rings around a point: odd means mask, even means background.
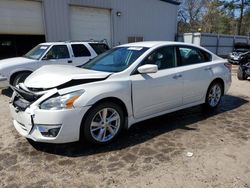
[[[121,72],[133,64],[148,48],[120,47],[97,56],[82,68],[104,72]]]

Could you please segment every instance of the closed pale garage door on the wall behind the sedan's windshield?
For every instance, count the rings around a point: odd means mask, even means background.
[[[70,7],[72,40],[103,40],[111,42],[111,15],[108,9]]]

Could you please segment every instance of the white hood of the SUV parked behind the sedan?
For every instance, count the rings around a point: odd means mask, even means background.
[[[24,63],[30,63],[34,61],[36,60],[28,59],[25,57],[14,57],[14,58],[3,59],[3,60],[0,60],[0,69],[4,69],[4,68],[11,67],[11,66],[24,64]]]

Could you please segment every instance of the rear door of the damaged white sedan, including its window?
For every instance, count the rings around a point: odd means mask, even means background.
[[[178,66],[183,76],[183,105],[199,102],[213,78],[212,56],[196,47],[179,46]]]

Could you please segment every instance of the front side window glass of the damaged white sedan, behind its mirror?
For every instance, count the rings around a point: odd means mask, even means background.
[[[175,67],[175,48],[166,46],[156,49],[143,61],[142,65],[146,64],[155,64],[159,70]]]

